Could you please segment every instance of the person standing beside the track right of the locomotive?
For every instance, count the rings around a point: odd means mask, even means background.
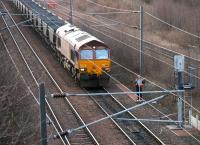
[[[142,98],[142,94],[140,94],[139,92],[142,92],[142,88],[144,87],[144,79],[141,77],[141,76],[138,76],[136,79],[135,79],[135,89],[136,89],[136,92],[137,92],[137,100],[141,100]]]

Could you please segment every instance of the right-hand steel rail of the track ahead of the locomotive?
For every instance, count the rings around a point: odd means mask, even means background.
[[[104,90],[106,92],[108,92],[105,88]],[[109,92],[108,92],[109,93]],[[117,102],[123,109],[127,109],[121,102],[119,102],[113,95],[110,95],[113,100],[115,100],[115,102]],[[137,117],[135,115],[133,115],[130,111],[127,112],[129,115],[131,115],[134,119],[137,119]],[[145,126],[141,121],[138,120],[138,122],[140,123],[140,125],[142,125],[142,127],[144,127],[144,129],[146,129],[159,143],[165,145],[165,143],[159,139],[159,137],[157,137],[147,126]]]

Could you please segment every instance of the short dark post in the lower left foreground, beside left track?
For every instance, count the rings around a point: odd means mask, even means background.
[[[46,126],[46,102],[44,83],[39,86],[40,89],[40,145],[47,145],[47,126]]]

